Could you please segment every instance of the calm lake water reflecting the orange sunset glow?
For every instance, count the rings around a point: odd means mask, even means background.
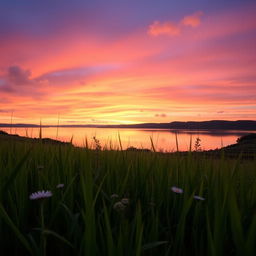
[[[1,128],[8,133],[21,136],[38,137],[39,128]],[[188,150],[190,139],[192,149],[197,137],[201,139],[203,150],[221,148],[236,142],[237,138],[251,133],[250,131],[189,131],[189,130],[163,130],[163,129],[112,129],[112,128],[43,128],[43,137],[70,141],[73,136],[73,144],[85,145],[85,140],[92,147],[95,145],[93,137],[96,137],[104,147],[119,147],[118,134],[120,134],[123,148],[134,146],[137,148],[151,148],[150,137],[154,141],[155,148],[160,151],[176,151],[176,134],[179,150]],[[253,131],[256,132],[256,131]]]

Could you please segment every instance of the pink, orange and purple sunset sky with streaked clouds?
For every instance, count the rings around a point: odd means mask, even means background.
[[[0,123],[256,120],[255,13],[255,0],[1,0]]]

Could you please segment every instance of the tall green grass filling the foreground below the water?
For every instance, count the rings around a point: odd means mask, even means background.
[[[96,148],[0,140],[1,254],[256,255],[255,158]]]

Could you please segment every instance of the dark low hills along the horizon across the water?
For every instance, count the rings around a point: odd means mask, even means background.
[[[0,127],[40,127],[35,124],[0,124]],[[42,125],[42,127],[57,127],[57,125]],[[255,131],[256,121],[252,120],[212,120],[212,121],[189,121],[171,123],[144,123],[127,125],[60,125],[59,127],[96,127],[96,128],[141,128],[141,129],[188,129],[188,130],[246,130]]]

